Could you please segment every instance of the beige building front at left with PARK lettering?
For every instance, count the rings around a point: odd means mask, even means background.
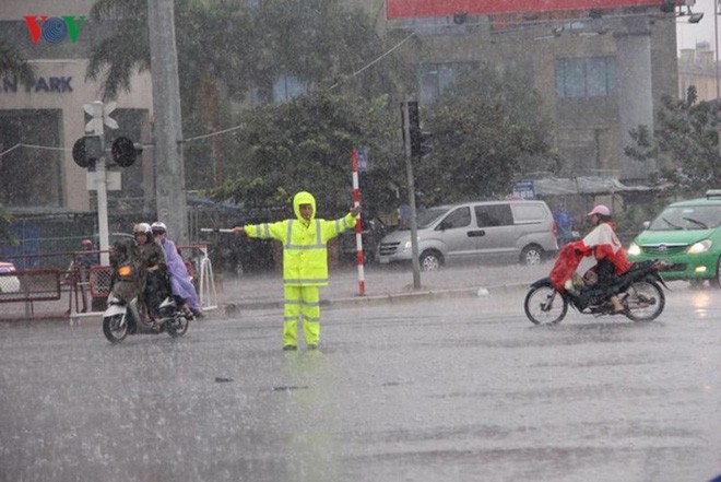
[[[87,212],[93,208],[87,169],[75,164],[72,146],[85,134],[90,120],[83,105],[103,101],[99,83],[85,79],[91,46],[115,27],[87,19],[93,3],[0,3],[0,42],[28,59],[36,73],[33,85],[23,85],[13,77],[0,79],[0,203],[11,213]],[[147,142],[150,74],[134,75],[130,92],[116,101],[110,117],[119,128],[105,128],[106,148],[121,136]],[[120,176],[122,191],[108,192],[110,205],[118,205],[120,200],[150,205],[152,165],[141,158],[121,169]]]

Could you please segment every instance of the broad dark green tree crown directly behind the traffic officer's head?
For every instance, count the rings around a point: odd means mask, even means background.
[[[307,190],[316,197],[320,214],[348,209],[353,148],[368,146],[376,173],[387,176],[391,171],[391,160],[380,148],[392,121],[380,108],[382,103],[315,91],[247,113],[246,129],[238,134],[243,155],[232,179],[213,196],[248,207],[287,205],[295,192]],[[390,191],[385,185],[380,190]]]

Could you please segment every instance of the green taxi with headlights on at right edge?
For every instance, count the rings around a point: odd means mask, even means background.
[[[629,245],[629,261],[669,262],[665,280],[721,285],[721,190],[669,204]]]

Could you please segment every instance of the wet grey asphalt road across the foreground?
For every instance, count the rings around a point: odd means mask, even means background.
[[[679,286],[681,287],[681,286]],[[659,321],[532,326],[522,292],[281,311],[110,345],[0,325],[0,481],[707,481],[721,473],[721,299]]]

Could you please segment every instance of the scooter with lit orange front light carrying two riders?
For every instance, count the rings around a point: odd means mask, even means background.
[[[155,325],[143,321],[137,295],[138,272],[133,262],[126,259],[119,263],[113,278],[108,307],[103,314],[103,333],[110,343],[118,343],[128,334],[157,334],[166,331],[176,338],[188,331],[192,316],[186,315],[172,295],[161,302]]]

